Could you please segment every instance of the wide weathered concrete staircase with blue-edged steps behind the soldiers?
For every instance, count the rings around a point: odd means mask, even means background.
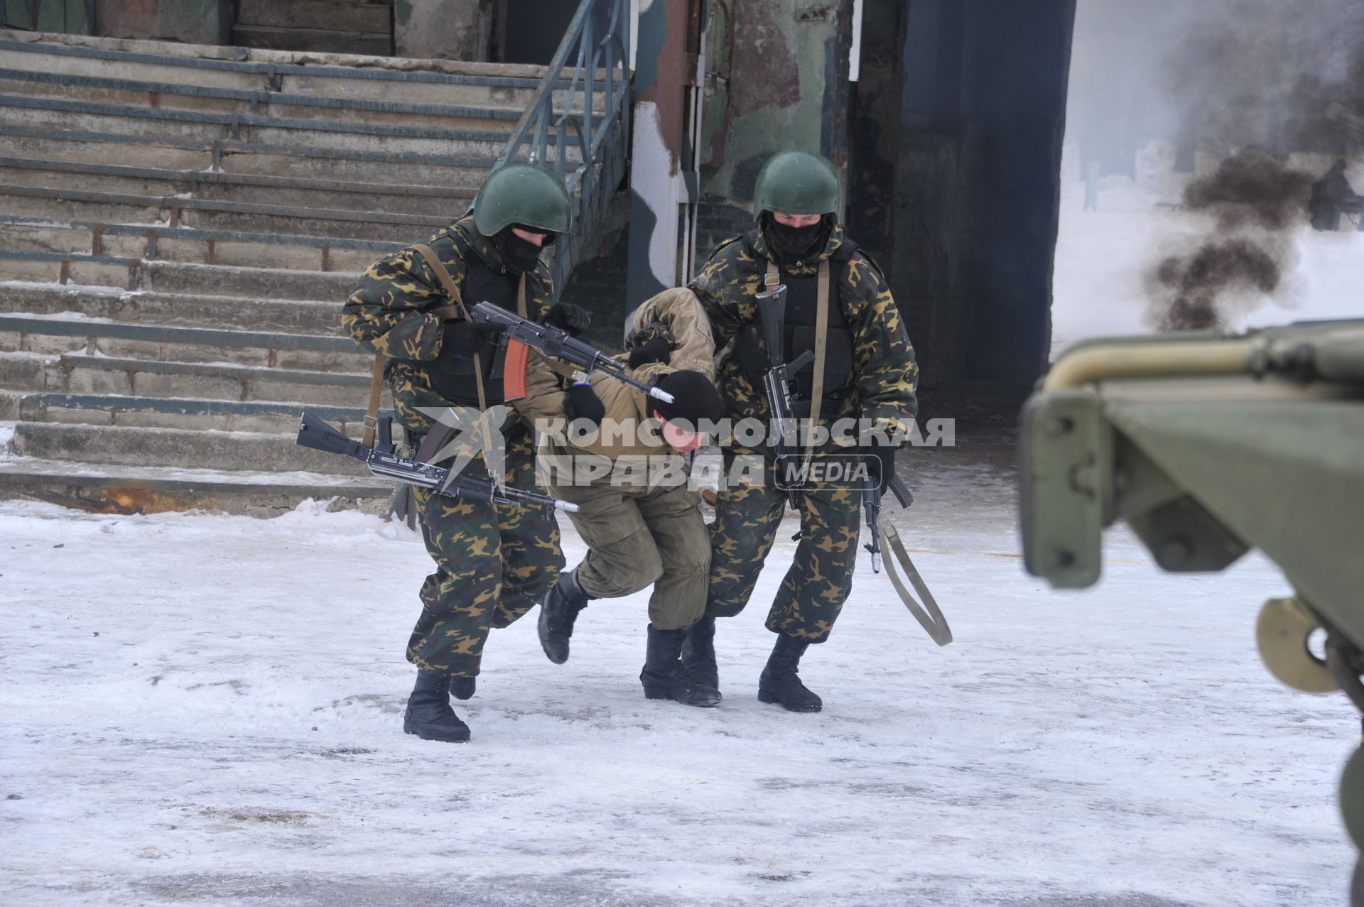
[[[359,434],[341,303],[462,214],[542,75],[0,31],[0,496],[379,507],[299,413]]]

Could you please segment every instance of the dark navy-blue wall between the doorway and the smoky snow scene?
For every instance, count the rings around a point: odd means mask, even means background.
[[[1075,0],[914,0],[891,289],[925,385],[1026,390],[1050,346]]]

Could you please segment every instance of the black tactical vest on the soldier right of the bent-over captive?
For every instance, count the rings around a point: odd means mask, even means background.
[[[753,250],[754,240],[757,240],[756,229],[743,235],[743,244],[749,254],[757,261],[765,262],[762,255]],[[824,404],[820,408],[825,416],[837,412],[853,382],[853,329],[843,314],[843,286],[847,282],[848,262],[855,251],[857,246],[844,237],[843,244],[829,256],[829,282],[833,286],[829,293],[828,325],[824,326],[828,340],[824,352]],[[791,361],[807,349],[814,351],[814,337],[818,330],[816,303],[820,278],[818,271],[809,277],[792,277],[786,269],[779,270],[782,282],[786,284],[783,361]],[[760,323],[746,325],[738,333],[734,340],[734,356],[739,370],[756,386],[761,387],[762,374],[768,368],[768,357]],[[814,364],[806,366],[792,378],[795,379],[795,396],[791,401],[794,415],[809,416],[810,394],[814,390]]]

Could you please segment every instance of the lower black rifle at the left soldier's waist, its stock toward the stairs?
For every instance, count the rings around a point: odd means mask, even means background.
[[[299,421],[297,442],[301,447],[311,447],[312,450],[359,460],[375,476],[396,479],[397,481],[421,488],[431,488],[447,498],[509,503],[517,507],[539,507],[546,516],[552,514],[555,509],[570,513],[578,509],[576,503],[558,501],[537,491],[509,488],[477,476],[457,475],[450,477],[447,469],[430,462],[400,457],[397,449],[393,446],[393,419],[389,416],[379,420],[378,438],[374,447],[366,447],[359,441],[346,438],[312,413],[303,413],[303,419]]]

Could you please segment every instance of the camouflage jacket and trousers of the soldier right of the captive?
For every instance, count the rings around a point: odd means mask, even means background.
[[[835,225],[818,256],[787,271],[814,277],[820,262],[846,241],[842,226]],[[746,325],[761,323],[754,296],[764,289],[767,254],[761,232],[752,254],[741,239],[730,240],[711,255],[689,285],[711,319],[716,349]],[[919,368],[885,278],[861,252],[854,252],[847,267],[835,267],[833,273],[840,276],[837,303],[853,333],[853,393],[840,412],[821,413],[820,423],[829,427],[851,416],[870,420],[873,428],[889,434],[908,432],[918,413]],[[754,386],[732,357],[722,360],[717,371],[726,416],[768,419],[762,387]],[[828,450],[833,447],[827,446],[821,453]],[[735,457],[765,458],[765,469],[758,471],[765,484],[720,483],[717,518],[711,525],[707,614],[712,616],[732,616],[743,610],[772,548],[786,494],[776,488],[771,453],[738,446],[724,451],[726,475],[731,473]],[[768,614],[769,630],[812,642],[828,637],[853,586],[861,525],[858,491],[824,488],[801,496],[801,543]]]

